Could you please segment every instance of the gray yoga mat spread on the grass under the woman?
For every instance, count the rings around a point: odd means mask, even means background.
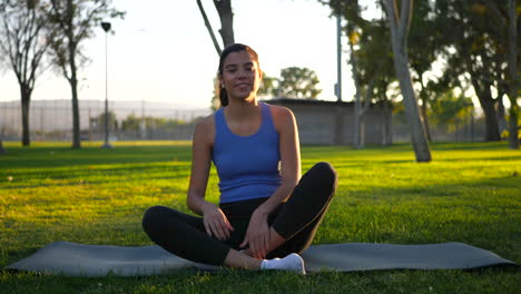
[[[492,252],[463,243],[393,245],[344,243],[311,246],[302,254],[307,272],[391,268],[441,270],[515,265]],[[165,275],[184,268],[216,266],[177,257],[159,246],[122,247],[56,242],[7,268],[67,276]]]

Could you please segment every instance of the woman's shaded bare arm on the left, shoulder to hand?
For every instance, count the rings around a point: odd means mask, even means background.
[[[213,116],[196,125],[191,143],[191,174],[187,205],[194,213],[203,216],[208,235],[215,236],[217,239],[227,239],[229,238],[229,232],[234,228],[220,208],[205,200],[214,136]]]

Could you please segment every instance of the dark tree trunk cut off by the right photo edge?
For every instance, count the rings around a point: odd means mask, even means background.
[[[509,119],[509,147],[519,149],[518,138],[518,13],[515,0],[509,0],[509,76],[510,76],[510,119]]]

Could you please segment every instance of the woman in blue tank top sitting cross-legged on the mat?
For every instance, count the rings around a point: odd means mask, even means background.
[[[166,251],[198,263],[305,274],[298,253],[309,246],[336,188],[326,163],[301,178],[295,118],[257,101],[263,72],[257,53],[236,43],[219,60],[222,108],[196,126],[187,204],[196,217],[164,206],[142,219]],[[205,200],[210,163],[220,200]],[[284,258],[279,258],[284,257]]]

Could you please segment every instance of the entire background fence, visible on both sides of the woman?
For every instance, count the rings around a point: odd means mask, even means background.
[[[197,118],[210,114],[210,109],[189,109],[169,104],[145,101],[112,101],[109,109],[116,116],[117,126],[111,126],[110,140],[189,140]],[[80,101],[80,128],[82,140],[102,140],[105,129],[99,118],[105,117],[105,101]],[[332,114],[333,115],[333,114]],[[138,126],[122,128],[122,121],[134,116]],[[161,118],[147,121],[148,118]],[[148,119],[149,120],[149,119]],[[305,129],[316,125],[313,119],[301,118],[299,128]],[[160,122],[160,121],[159,121]],[[348,122],[348,121],[347,121]],[[371,124],[371,122],[370,122]],[[71,140],[72,110],[70,100],[35,100],[30,107],[31,140]],[[320,128],[313,128],[321,131]],[[392,140],[394,143],[410,141],[410,131],[405,120],[393,116]],[[3,140],[21,139],[21,110],[19,101],[0,102],[0,138]],[[433,141],[482,141],[484,122],[482,117],[475,117],[471,111],[456,125],[430,126]],[[312,134],[317,136],[317,134]],[[306,139],[302,138],[305,143]]]

